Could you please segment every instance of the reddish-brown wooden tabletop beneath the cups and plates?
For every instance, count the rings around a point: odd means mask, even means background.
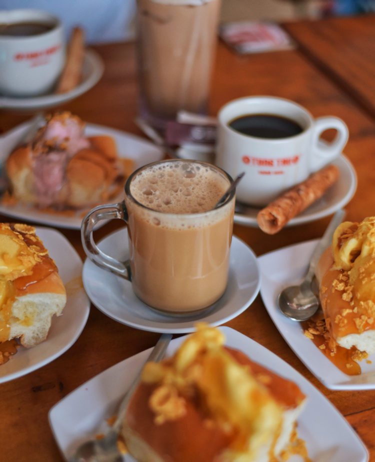
[[[370,19],[363,17],[363,23]],[[371,18],[372,23],[375,20]],[[341,22],[342,21],[342,22]],[[329,40],[316,43],[311,38],[311,30],[324,27],[324,22],[292,24],[290,30],[298,30],[298,41],[303,48],[237,55],[224,44],[219,43],[214,67],[214,78],[210,101],[210,113],[215,115],[219,107],[230,99],[244,95],[268,94],[290,98],[304,105],[314,116],[334,114],[348,125],[350,137],[344,149],[346,156],[355,166],[358,176],[357,191],[345,206],[347,219],[358,221],[373,215],[373,185],[375,169],[373,151],[375,146],[375,120],[363,104],[354,97],[354,86],[341,85],[332,78],[316,60],[327,54],[326,43],[337,44],[330,49],[331,61],[342,59],[338,46],[339,24],[346,19],[336,19],[336,28],[329,29]],[[358,40],[361,21],[357,28],[349,28],[346,43]],[[305,30],[305,37],[304,37]],[[352,36],[351,36],[352,35]],[[295,33],[296,36],[296,33]],[[303,39],[305,38],[305,39]],[[307,52],[311,44],[311,52]],[[363,59],[367,42],[356,42],[361,47]],[[95,46],[102,56],[105,71],[99,83],[77,99],[61,106],[78,114],[84,120],[119,128],[141,135],[133,122],[136,114],[136,74],[134,45],[116,43]],[[375,64],[368,56],[369,72],[375,72]],[[347,75],[361,75],[352,59],[345,59]],[[353,72],[353,73],[351,73]],[[364,70],[363,70],[364,72]],[[353,77],[353,80],[356,80]],[[372,88],[368,88],[372,90]],[[0,111],[0,130],[15,126],[30,117],[29,113]],[[0,216],[1,220],[9,220]],[[257,255],[284,245],[317,238],[322,235],[330,217],[311,223],[287,227],[274,236],[265,235],[257,228],[234,226],[234,233],[249,244]],[[100,238],[121,223],[117,220],[97,231]],[[78,230],[60,229],[70,240],[80,256],[83,250]],[[260,296],[251,306],[226,325],[251,337],[291,364],[310,380],[337,409],[345,416],[364,441],[375,462],[375,390],[373,391],[332,391],[325,388],[302,364],[283,340],[269,318]],[[50,462],[61,461],[61,455],[48,425],[48,410],[67,393],[103,371],[107,367],[139,351],[153,346],[157,333],[136,330],[122,325],[91,306],[87,324],[77,341],[60,357],[51,363],[15,380],[0,384],[0,460],[4,462]]]

